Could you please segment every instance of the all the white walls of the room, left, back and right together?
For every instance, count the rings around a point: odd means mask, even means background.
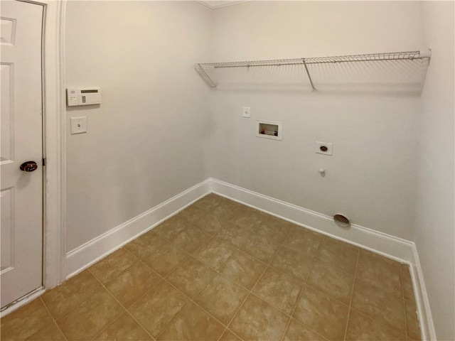
[[[67,6],[66,84],[103,91],[100,107],[66,113],[67,251],[211,176],[415,240],[438,338],[454,340],[453,3]],[[287,87],[273,69],[250,73],[272,79],[261,90],[244,77],[210,92],[193,70],[204,61],[427,46],[434,54],[422,97],[406,65],[394,66],[390,86],[375,83],[390,73],[380,64],[341,67],[335,77],[312,69],[315,93],[307,81]],[[305,79],[287,71],[287,80]],[[365,83],[347,85],[351,74]],[[402,77],[409,82],[399,84]],[[251,119],[240,117],[244,106]],[[70,135],[70,117],[80,116],[87,116],[88,133]],[[282,121],[283,141],[256,138],[256,119]],[[314,153],[314,141],[333,143],[333,156]]]

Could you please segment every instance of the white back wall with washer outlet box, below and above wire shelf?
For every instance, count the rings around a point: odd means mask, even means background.
[[[213,56],[224,62],[419,50],[420,10],[417,1],[247,2],[214,11]],[[346,68],[339,73],[363,72],[368,82],[390,72],[374,63]],[[221,78],[213,94],[213,178],[412,239],[418,94],[395,85],[385,92],[343,87],[336,72],[323,85],[314,77],[315,93],[309,86],[282,91],[284,85],[258,91],[247,77],[238,87],[235,80],[223,87]],[[241,117],[244,106],[251,119]],[[255,137],[257,119],[282,121],[283,140]],[[333,143],[333,156],[314,153],[315,141]],[[326,168],[324,178],[319,168]]]

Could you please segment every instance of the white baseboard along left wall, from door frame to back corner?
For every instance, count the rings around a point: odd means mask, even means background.
[[[171,197],[171,199],[68,252],[65,264],[66,279],[87,269],[208,193],[210,193],[210,179],[198,183],[198,185]]]

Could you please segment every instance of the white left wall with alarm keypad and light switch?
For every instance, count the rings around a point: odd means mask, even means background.
[[[211,11],[189,1],[68,1],[66,85],[100,86],[68,108],[67,251],[208,177]],[[87,134],[70,135],[86,116]]]

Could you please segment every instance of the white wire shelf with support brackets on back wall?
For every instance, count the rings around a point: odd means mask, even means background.
[[[336,55],[331,57],[314,57],[314,58],[293,58],[293,59],[273,59],[273,60],[250,60],[243,62],[224,62],[224,63],[199,63],[196,64],[196,70],[203,79],[208,82],[210,87],[216,87],[216,83],[210,78],[203,67],[228,68],[228,67],[264,67],[264,66],[282,66],[282,65],[304,65],[306,74],[309,77],[313,91],[313,80],[307,65],[326,64],[326,63],[356,63],[356,62],[377,62],[388,60],[420,60],[431,58],[431,50],[427,51],[404,51],[404,52],[386,52],[386,53],[367,53],[361,55]]]

